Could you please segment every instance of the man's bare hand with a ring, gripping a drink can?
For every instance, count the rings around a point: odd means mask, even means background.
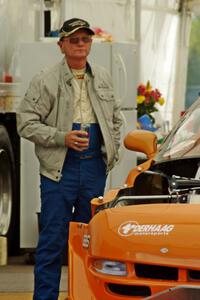
[[[89,146],[88,133],[82,130],[69,131],[65,136],[65,146],[79,152],[86,150]]]

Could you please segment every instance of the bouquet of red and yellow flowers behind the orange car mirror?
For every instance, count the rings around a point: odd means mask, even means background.
[[[152,89],[149,81],[147,84],[140,84],[137,88],[137,117],[138,119],[143,115],[147,115],[152,124],[155,123],[155,118],[152,116],[153,112],[158,111],[157,105],[165,103],[162,94],[158,89]]]

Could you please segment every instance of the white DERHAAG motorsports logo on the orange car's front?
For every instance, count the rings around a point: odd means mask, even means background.
[[[118,228],[121,236],[131,235],[168,235],[174,229],[173,224],[142,224],[136,221],[126,221]]]

